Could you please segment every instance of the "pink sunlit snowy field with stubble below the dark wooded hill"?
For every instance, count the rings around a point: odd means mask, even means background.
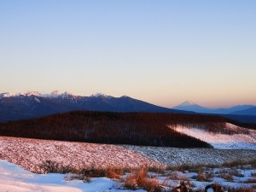
[[[52,160],[64,166],[161,166],[142,154],[110,144],[60,142],[20,137],[0,137],[0,159],[30,172],[44,172],[40,165]]]

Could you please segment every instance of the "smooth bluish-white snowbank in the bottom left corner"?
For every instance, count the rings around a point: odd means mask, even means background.
[[[106,178],[93,178],[91,183],[73,180],[66,181],[64,174],[35,174],[27,172],[5,160],[0,160],[0,191],[8,192],[125,192],[116,189],[119,183]],[[115,189],[114,189],[115,188]],[[143,192],[145,190],[137,190]]]

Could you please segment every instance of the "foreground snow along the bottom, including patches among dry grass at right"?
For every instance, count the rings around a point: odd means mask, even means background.
[[[255,165],[226,167],[177,167],[180,170],[148,172],[146,180],[154,183],[160,190],[170,192],[177,188],[181,181],[190,191],[204,191],[208,184],[216,183],[224,191],[256,191]],[[0,189],[9,192],[128,192],[125,181],[132,173],[126,173],[120,179],[92,177],[90,183],[81,180],[68,180],[69,174],[35,174],[27,172],[5,160],[0,160]],[[130,174],[130,175],[129,175]],[[126,178],[126,180],[125,180]],[[129,181],[129,180],[128,180]],[[149,185],[149,184],[148,184]],[[152,186],[152,184],[151,184]],[[143,186],[145,188],[145,185]],[[149,185],[150,187],[150,185]],[[141,186],[135,187],[137,192],[145,192]],[[156,187],[154,188],[156,189]]]

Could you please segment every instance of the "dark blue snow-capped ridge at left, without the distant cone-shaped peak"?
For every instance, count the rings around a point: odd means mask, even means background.
[[[152,112],[188,113],[172,108],[162,108],[154,104],[133,99],[129,96],[73,96],[57,90],[50,94],[37,91],[24,94],[0,94],[0,122],[18,119],[32,119],[54,113],[68,111],[109,111],[109,112]]]

